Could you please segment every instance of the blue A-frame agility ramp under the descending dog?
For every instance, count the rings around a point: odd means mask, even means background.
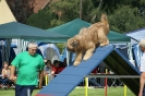
[[[87,61],[77,67],[67,67],[36,96],[68,96],[82,80],[88,75],[101,61],[117,74],[140,75],[140,72],[113,46],[99,47]],[[138,79],[121,79],[136,95],[138,93]]]

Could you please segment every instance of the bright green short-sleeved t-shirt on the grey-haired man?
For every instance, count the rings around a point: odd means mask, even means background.
[[[19,85],[38,85],[38,72],[44,70],[45,62],[40,55],[31,56],[28,51],[19,53],[12,61],[16,67]]]

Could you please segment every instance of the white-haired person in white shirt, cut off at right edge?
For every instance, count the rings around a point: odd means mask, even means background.
[[[143,52],[143,56],[141,58],[141,67],[140,67],[140,71],[142,72],[142,74],[140,77],[138,96],[145,96],[145,94],[143,93],[144,85],[145,85],[145,39],[142,39],[138,45],[140,45],[141,51]]]

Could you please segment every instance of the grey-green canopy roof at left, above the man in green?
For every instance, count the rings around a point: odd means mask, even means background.
[[[0,38],[20,38],[20,39],[68,39],[69,36],[58,33],[46,32],[37,27],[28,26],[17,22],[11,22],[0,25]]]

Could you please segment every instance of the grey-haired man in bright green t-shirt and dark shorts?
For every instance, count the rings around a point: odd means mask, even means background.
[[[41,88],[45,63],[43,57],[36,53],[36,50],[37,44],[28,43],[28,51],[19,53],[11,63],[10,80],[15,80],[14,72],[17,68],[15,96],[31,96],[35,86],[38,85],[38,86]]]

